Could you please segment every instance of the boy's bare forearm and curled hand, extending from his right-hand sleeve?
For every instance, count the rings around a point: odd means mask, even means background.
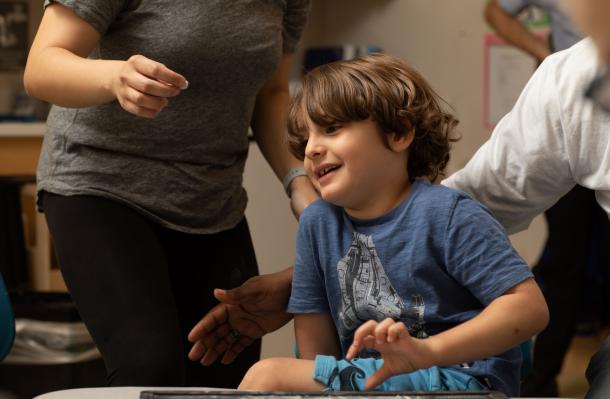
[[[366,382],[373,389],[387,378],[432,366],[449,366],[494,356],[542,331],[548,323],[544,297],[533,279],[491,302],[478,316],[427,339],[409,335],[405,325],[386,319],[356,330],[347,358],[362,348],[379,351],[383,366]]]

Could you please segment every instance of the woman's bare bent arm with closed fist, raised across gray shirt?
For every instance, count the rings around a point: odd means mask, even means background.
[[[64,107],[88,107],[117,99],[135,115],[155,117],[188,85],[164,65],[134,55],[129,60],[91,60],[100,34],[69,8],[47,6],[24,73],[29,95]]]

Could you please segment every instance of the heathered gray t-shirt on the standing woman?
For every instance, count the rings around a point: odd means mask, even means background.
[[[152,120],[117,101],[54,106],[38,190],[111,198],[189,233],[234,227],[247,202],[242,173],[256,94],[295,50],[309,0],[56,2],[102,34],[90,58],[141,54],[184,75],[189,88]]]

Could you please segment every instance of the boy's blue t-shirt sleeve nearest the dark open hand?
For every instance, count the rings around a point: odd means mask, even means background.
[[[315,224],[312,220],[314,212],[310,212],[310,207],[305,209],[299,219],[289,313],[330,311],[326,285],[315,250],[315,229],[312,228]]]

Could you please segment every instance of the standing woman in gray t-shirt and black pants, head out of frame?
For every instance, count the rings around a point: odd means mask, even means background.
[[[204,368],[187,360],[186,336],[214,287],[258,273],[244,219],[248,126],[278,177],[300,165],[283,118],[309,1],[45,7],[24,77],[54,104],[39,206],[109,384],[237,385],[259,345]],[[305,178],[289,186],[298,214],[315,192]]]

